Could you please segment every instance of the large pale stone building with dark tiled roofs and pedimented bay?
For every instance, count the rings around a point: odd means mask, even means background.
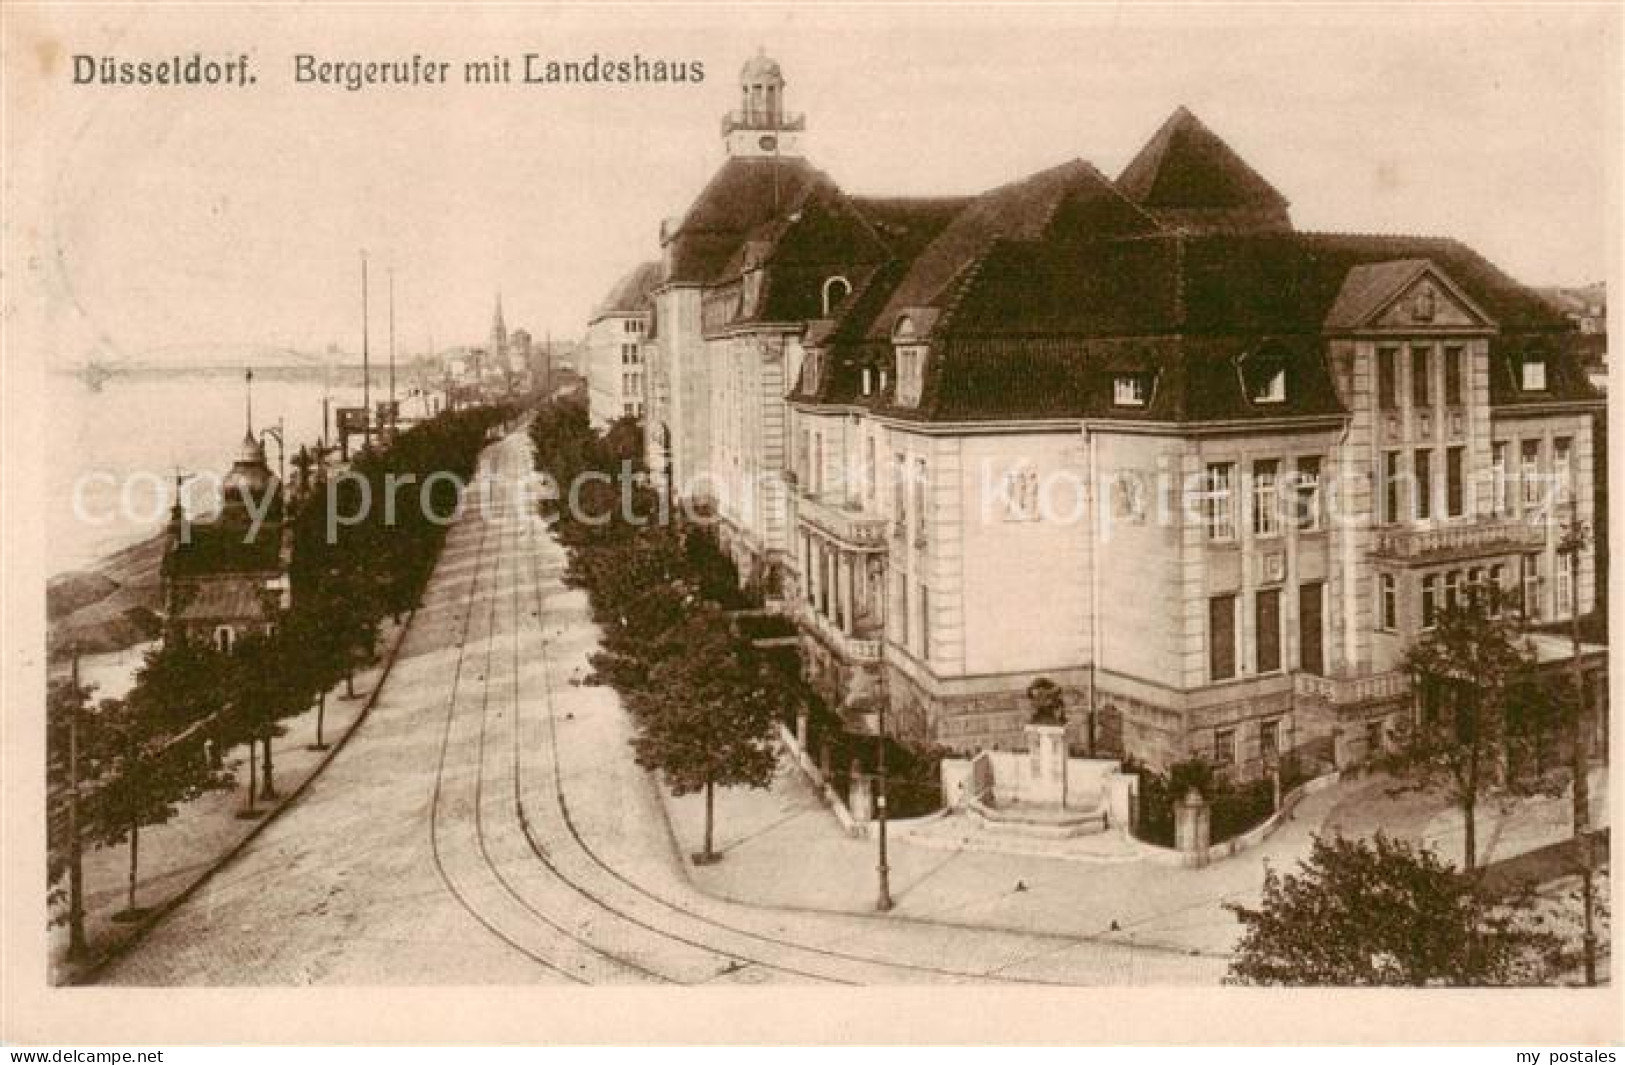
[[[1116,180],[964,198],[734,156],[663,246],[650,457],[855,719],[1016,745],[1048,678],[1090,751],[1347,763],[1456,597],[1594,606],[1571,325],[1459,242],[1294,229],[1183,107]]]

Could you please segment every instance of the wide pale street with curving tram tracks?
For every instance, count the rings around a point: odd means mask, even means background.
[[[530,468],[522,436],[486,454]],[[1095,937],[769,909],[697,891],[596,631],[525,501],[450,530],[361,732],[104,982],[1216,982]]]

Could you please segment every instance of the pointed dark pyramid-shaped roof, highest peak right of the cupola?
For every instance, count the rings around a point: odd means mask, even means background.
[[[1162,124],[1116,184],[1165,221],[1290,226],[1287,198],[1186,107]]]

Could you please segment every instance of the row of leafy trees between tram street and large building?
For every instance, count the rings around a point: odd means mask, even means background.
[[[569,579],[603,631],[593,680],[621,693],[639,766],[674,795],[704,792],[694,860],[715,862],[715,789],[772,784],[775,720],[804,698],[800,681],[738,631],[738,572],[708,532],[656,520],[635,421],[596,433],[583,405],[559,400],[536,413],[531,439],[538,468],[566,496],[548,509],[570,551]]]

